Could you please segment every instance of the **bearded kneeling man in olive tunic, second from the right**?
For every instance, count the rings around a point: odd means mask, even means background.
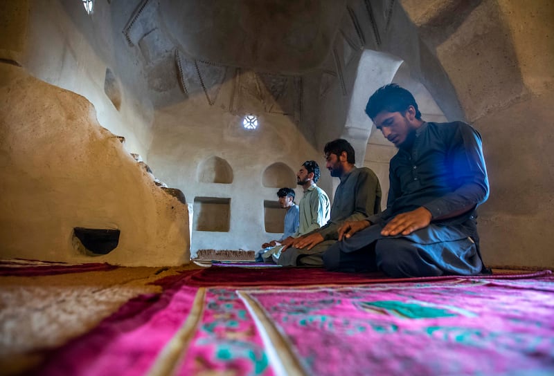
[[[281,250],[283,266],[323,266],[323,252],[339,238],[345,220],[359,220],[380,212],[381,186],[373,171],[355,167],[354,148],[346,140],[328,142],[324,148],[327,169],[341,179],[334,194],[330,220],[323,227],[294,238]]]

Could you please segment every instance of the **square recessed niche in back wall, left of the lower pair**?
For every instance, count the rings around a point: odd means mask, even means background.
[[[195,197],[193,229],[229,232],[231,198]]]

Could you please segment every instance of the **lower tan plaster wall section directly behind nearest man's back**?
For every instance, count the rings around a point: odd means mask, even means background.
[[[492,265],[554,267],[553,105],[551,91],[475,122],[491,186],[479,231],[483,257]]]

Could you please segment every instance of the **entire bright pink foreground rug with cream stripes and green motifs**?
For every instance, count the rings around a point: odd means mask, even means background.
[[[303,288],[258,281],[256,290],[185,278],[203,271],[158,281],[161,294],[132,299],[33,375],[554,373],[548,271]]]

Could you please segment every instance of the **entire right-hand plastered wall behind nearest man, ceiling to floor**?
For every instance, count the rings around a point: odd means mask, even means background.
[[[554,3],[479,1],[458,14],[434,47],[483,135],[491,186],[480,209],[483,258],[554,267]],[[433,28],[448,21],[434,19]]]

